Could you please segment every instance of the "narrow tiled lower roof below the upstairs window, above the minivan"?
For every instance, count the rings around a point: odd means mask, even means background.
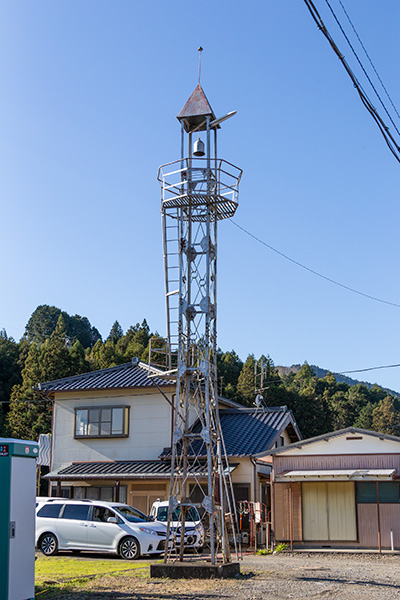
[[[193,476],[205,476],[206,467],[197,466],[195,473],[189,469]],[[171,463],[161,460],[117,460],[105,462],[73,462],[66,467],[61,467],[46,475],[46,479],[142,479],[142,478],[169,478],[171,476]]]

